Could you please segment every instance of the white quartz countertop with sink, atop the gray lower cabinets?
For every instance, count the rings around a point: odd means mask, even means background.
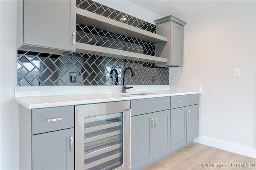
[[[143,95],[130,95],[130,94]],[[14,100],[28,109],[58,107],[81,104],[93,104],[102,102],[115,102],[124,100],[136,100],[145,98],[158,98],[164,96],[178,96],[186,94],[198,94],[200,90],[163,90],[143,91],[130,93],[95,93],[95,94],[69,94],[54,96],[27,96],[15,97]]]

